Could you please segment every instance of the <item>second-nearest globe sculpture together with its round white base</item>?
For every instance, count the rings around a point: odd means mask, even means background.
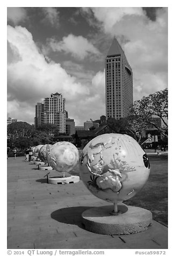
[[[48,156],[49,165],[59,172],[58,176],[49,177],[51,184],[70,184],[79,181],[79,176],[69,174],[70,170],[76,167],[79,160],[79,153],[74,144],[68,141],[55,143]]]

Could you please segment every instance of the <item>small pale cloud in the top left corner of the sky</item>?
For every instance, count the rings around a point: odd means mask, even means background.
[[[14,25],[19,24],[27,19],[27,12],[22,7],[8,7],[7,8],[8,21],[13,22]]]

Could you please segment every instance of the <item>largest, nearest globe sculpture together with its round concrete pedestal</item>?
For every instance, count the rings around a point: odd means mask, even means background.
[[[85,229],[101,234],[129,234],[148,229],[150,211],[122,203],[133,197],[148,180],[150,165],[137,141],[126,134],[103,134],[83,149],[81,180],[94,195],[113,203],[82,214]]]

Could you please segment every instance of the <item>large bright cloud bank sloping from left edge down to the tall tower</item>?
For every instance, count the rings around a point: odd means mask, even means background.
[[[8,26],[8,112],[18,120],[33,123],[35,104],[56,92],[65,97],[66,110],[76,125],[82,125],[84,116],[98,118],[105,105],[99,94],[101,86],[104,90],[101,76],[104,73],[84,86],[59,63],[48,63],[25,27]]]

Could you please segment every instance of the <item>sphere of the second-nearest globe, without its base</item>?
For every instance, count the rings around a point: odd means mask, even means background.
[[[74,144],[68,141],[55,143],[49,153],[48,162],[58,172],[69,172],[78,163],[79,153]]]

